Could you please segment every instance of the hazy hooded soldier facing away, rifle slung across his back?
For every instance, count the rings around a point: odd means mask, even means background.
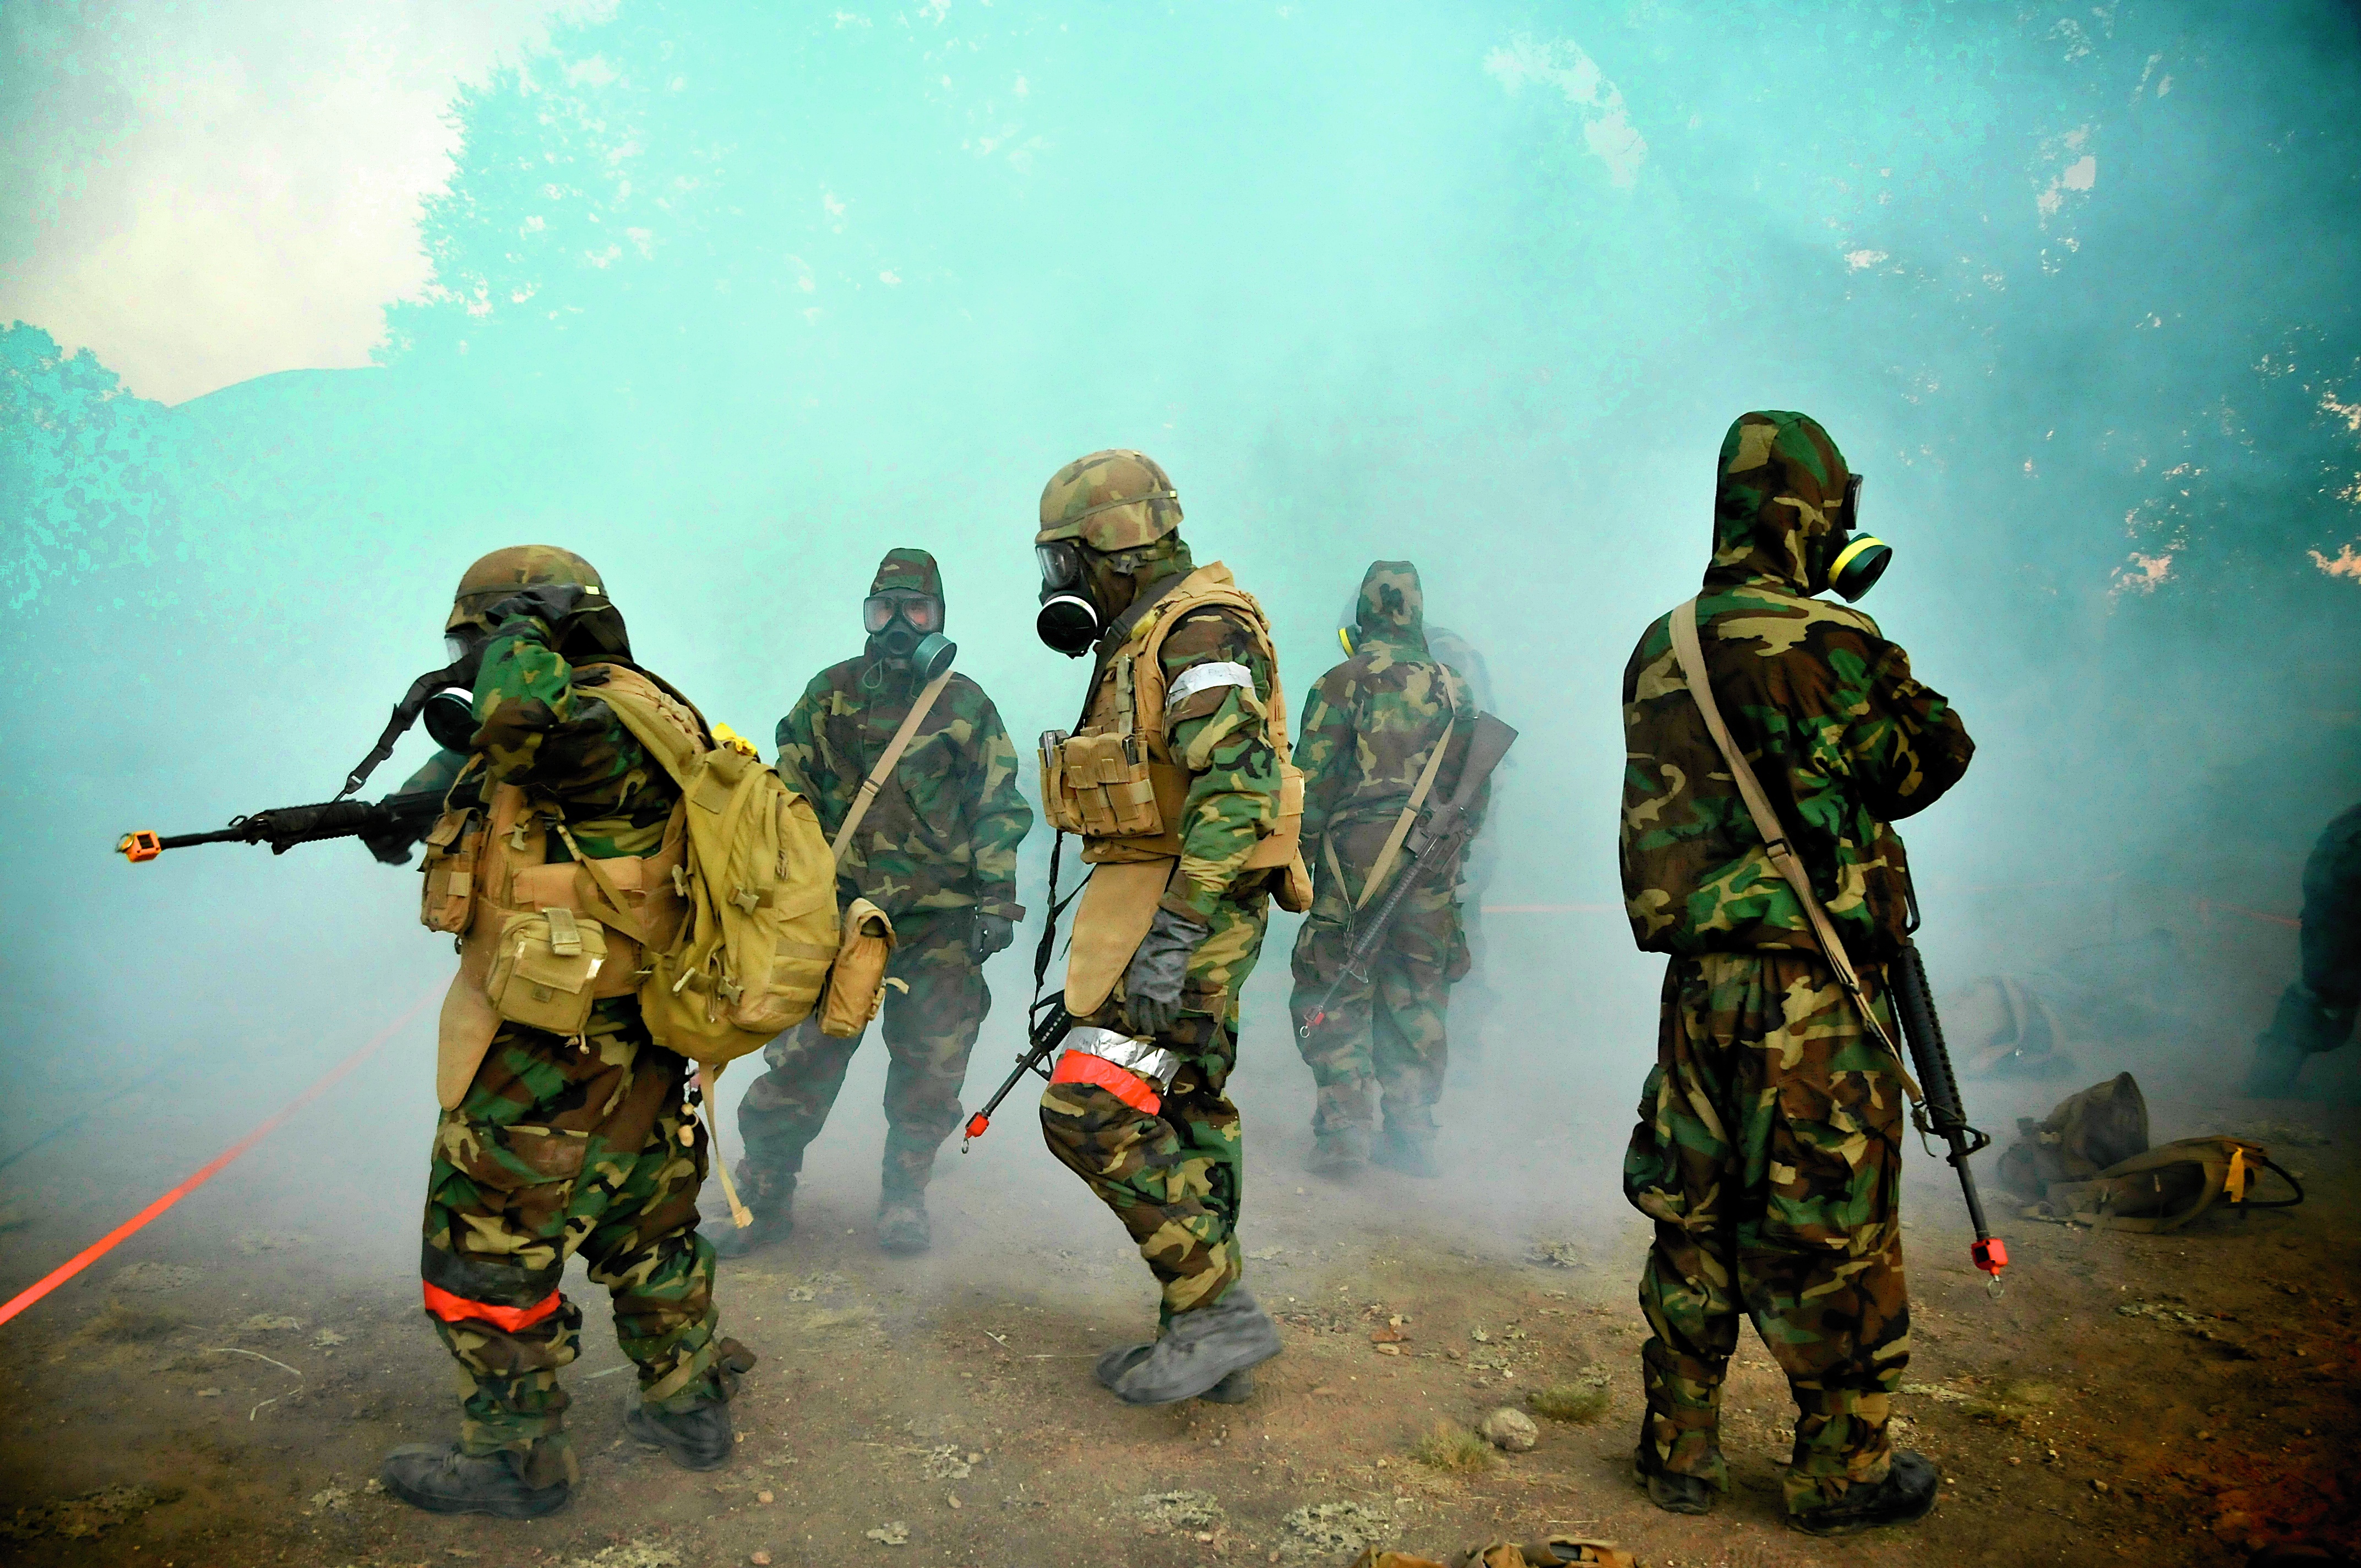
[[[1355,909],[1374,912],[1402,874],[1395,824],[1445,746],[1428,801],[1447,801],[1466,760],[1476,699],[1469,682],[1426,649],[1426,595],[1407,560],[1372,562],[1360,579],[1353,656],[1332,668],[1303,704],[1296,765],[1303,767],[1303,843],[1317,895],[1296,933],[1296,989],[1289,1011],[1296,1048],[1320,1089],[1313,1112],[1317,1176],[1348,1176],[1369,1157],[1372,1091],[1384,1096],[1379,1164],[1433,1176],[1435,1100],[1450,1067],[1445,1013],[1466,973],[1459,928],[1459,867],[1421,867],[1372,954],[1365,978],[1343,973],[1358,940]],[[1424,808],[1424,801],[1421,801]],[[1483,793],[1476,798],[1483,819]],[[1395,855],[1369,883],[1386,843]],[[1317,1027],[1320,999],[1336,989]]]

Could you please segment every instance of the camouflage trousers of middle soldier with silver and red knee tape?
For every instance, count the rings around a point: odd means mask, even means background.
[[[1124,1221],[1157,1278],[1162,1322],[1214,1306],[1244,1275],[1237,1211],[1247,1159],[1223,1089],[1237,1065],[1237,994],[1263,952],[1263,926],[1258,886],[1244,890],[1244,902],[1223,900],[1183,992],[1185,1006],[1206,1011],[1180,1013],[1155,1037],[1183,1058],[1155,1115],[1098,1084],[1053,1082],[1041,1091],[1048,1152]],[[1077,1023],[1126,1030],[1119,1001]]]

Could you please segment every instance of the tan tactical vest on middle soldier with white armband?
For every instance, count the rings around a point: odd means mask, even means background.
[[[1180,867],[1180,827],[1195,772],[1171,751],[1164,725],[1164,638],[1192,609],[1240,612],[1270,664],[1270,699],[1240,687],[1240,701],[1261,713],[1263,734],[1280,758],[1280,810],[1273,831],[1254,845],[1244,871],[1277,869],[1282,909],[1310,907],[1303,869],[1303,770],[1287,744],[1287,692],[1270,621],[1251,593],[1221,562],[1199,567],[1157,600],[1100,664],[1081,730],[1041,749],[1041,805],[1051,827],[1081,836],[1081,860],[1098,867],[1074,914],[1067,954],[1065,1006],[1096,1013],[1114,989],[1140,937],[1155,921]]]

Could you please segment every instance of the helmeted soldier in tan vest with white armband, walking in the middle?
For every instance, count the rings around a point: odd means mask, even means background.
[[[1197,567],[1178,527],[1162,468],[1098,451],[1048,482],[1034,536],[1041,640],[1096,652],[1074,732],[1041,737],[1044,810],[1093,867],[1041,1129],[1162,1292],[1159,1339],[1098,1358],[1133,1405],[1242,1400],[1280,1351],[1242,1282],[1242,1136],[1223,1086],[1268,904],[1310,902],[1270,623],[1228,567]]]

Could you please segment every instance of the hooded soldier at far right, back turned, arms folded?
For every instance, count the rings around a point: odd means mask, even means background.
[[[1714,697],[1898,1039],[1882,966],[1908,921],[1908,864],[1889,824],[1950,789],[1974,749],[1870,616],[1813,597],[1856,522],[1827,432],[1747,413],[1716,475],[1698,600]],[[1624,900],[1639,945],[1669,954],[1657,1063],[1624,1155],[1624,1195],[1655,1221],[1639,1287],[1653,1329],[1641,1478],[1683,1514],[1728,1490],[1716,1422],[1747,1315],[1799,1412],[1790,1518],[1813,1533],[1917,1518],[1934,1466],[1886,1438],[1910,1360],[1901,1065],[1771,867],[1669,616],[1639,640],[1622,694]]]

